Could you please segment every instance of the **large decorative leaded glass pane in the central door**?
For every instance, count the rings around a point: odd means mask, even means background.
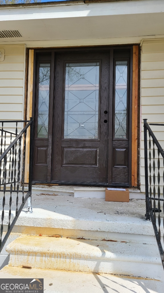
[[[98,139],[99,62],[67,63],[65,139]]]

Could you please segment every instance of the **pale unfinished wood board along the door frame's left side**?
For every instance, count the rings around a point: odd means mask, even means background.
[[[34,68],[34,50],[29,50],[27,120],[30,120],[30,117],[32,117],[33,68]],[[25,183],[28,183],[28,180],[29,180],[29,128],[27,129],[27,137],[26,137]]]

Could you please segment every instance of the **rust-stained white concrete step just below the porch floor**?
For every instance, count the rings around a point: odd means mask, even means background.
[[[153,244],[23,235],[6,251],[9,266],[161,279],[162,264]]]

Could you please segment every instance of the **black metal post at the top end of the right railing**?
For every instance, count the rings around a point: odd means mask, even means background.
[[[145,195],[146,197],[149,197],[149,180],[148,180],[148,162],[147,162],[147,128],[146,128],[146,122],[147,119],[144,120],[144,160],[145,160]],[[145,220],[150,220],[150,214],[149,214],[149,208],[147,206],[146,201],[146,214],[145,214]]]

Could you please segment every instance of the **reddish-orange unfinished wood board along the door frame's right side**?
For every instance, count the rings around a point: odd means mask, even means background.
[[[133,46],[132,77],[132,186],[137,186],[138,46]]]

